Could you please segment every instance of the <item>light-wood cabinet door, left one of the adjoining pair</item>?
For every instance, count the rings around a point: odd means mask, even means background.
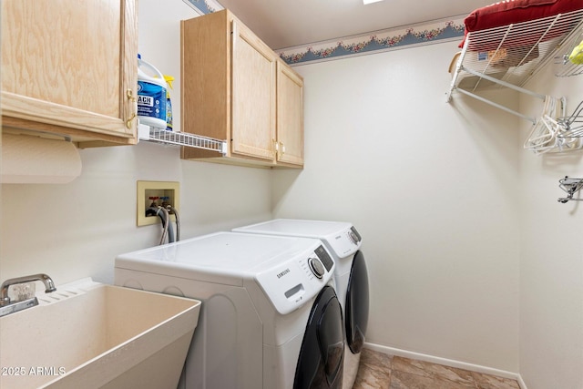
[[[231,152],[275,160],[276,56],[246,26],[232,21]]]

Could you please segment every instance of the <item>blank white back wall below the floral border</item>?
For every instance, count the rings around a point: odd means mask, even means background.
[[[361,231],[367,342],[517,372],[517,119],[445,103],[456,50],[295,67],[306,169],[276,172],[274,211]]]

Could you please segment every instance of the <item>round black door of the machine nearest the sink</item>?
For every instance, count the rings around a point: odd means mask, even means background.
[[[293,389],[341,389],[344,335],[340,302],[331,286],[316,298],[295,370]]]

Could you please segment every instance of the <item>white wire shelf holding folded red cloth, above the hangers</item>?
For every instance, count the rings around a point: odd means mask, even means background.
[[[447,101],[451,101],[456,91],[536,123],[537,118],[496,104],[476,92],[509,87],[544,100],[545,95],[523,86],[538,69],[557,56],[560,47],[567,46],[573,34],[580,31],[582,19],[583,9],[468,33],[455,69],[452,69]]]

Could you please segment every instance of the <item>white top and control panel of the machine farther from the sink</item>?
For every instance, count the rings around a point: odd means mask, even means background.
[[[363,241],[353,224],[345,221],[275,219],[233,231],[316,238],[323,241],[336,258],[353,255]]]

